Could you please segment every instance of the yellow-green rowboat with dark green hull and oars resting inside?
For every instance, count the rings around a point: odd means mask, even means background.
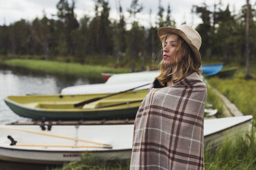
[[[27,95],[8,96],[4,101],[21,117],[47,120],[124,119],[134,118],[148,90],[126,93],[89,95]],[[104,99],[98,99],[113,95]],[[81,101],[92,101],[81,104]],[[79,106],[74,106],[79,104]]]

